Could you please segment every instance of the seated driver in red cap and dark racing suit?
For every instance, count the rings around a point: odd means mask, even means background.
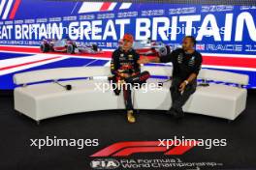
[[[114,79],[115,82],[121,84],[123,83],[123,80],[129,79],[129,77],[133,77],[141,72],[140,64],[138,64],[140,55],[132,48],[133,36],[125,34],[122,41],[123,44],[113,51],[111,63],[111,71],[114,75],[112,80]],[[123,88],[123,95],[127,110],[127,120],[129,123],[135,123],[136,119],[134,117],[130,87]]]

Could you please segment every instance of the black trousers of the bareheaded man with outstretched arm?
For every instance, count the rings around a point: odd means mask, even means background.
[[[178,89],[182,82],[182,79],[174,77],[170,88],[173,101],[172,107],[177,111],[182,111],[182,106],[186,103],[187,99],[196,92],[197,88],[197,80],[195,79],[193,82],[190,82],[181,93]]]

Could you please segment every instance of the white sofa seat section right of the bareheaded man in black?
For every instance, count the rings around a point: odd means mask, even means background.
[[[184,111],[234,120],[245,109],[246,89],[223,84],[199,86]]]

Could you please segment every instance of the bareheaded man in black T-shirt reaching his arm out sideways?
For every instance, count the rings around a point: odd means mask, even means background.
[[[168,111],[176,119],[184,116],[182,106],[196,91],[197,75],[201,70],[202,55],[194,49],[196,40],[186,36],[182,41],[182,48],[177,48],[171,54],[160,58],[143,58],[140,64],[145,63],[173,63],[173,81],[171,86],[172,107]]]

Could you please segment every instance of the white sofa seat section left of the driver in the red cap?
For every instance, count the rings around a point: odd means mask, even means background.
[[[106,82],[108,80],[61,82],[63,85],[71,84],[71,91],[53,82],[18,87],[15,89],[15,107],[35,120],[79,112],[123,109],[122,95],[115,96],[111,89],[103,93],[95,86],[95,83]]]

